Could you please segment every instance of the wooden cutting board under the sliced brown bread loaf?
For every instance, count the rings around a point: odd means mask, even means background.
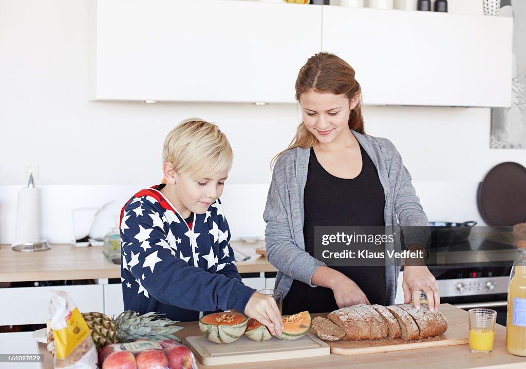
[[[327,341],[331,353],[338,355],[359,355],[377,352],[424,349],[428,347],[464,345],[469,343],[468,314],[450,304],[441,304],[440,311],[448,321],[448,330],[437,337],[420,341],[402,339],[381,339],[370,341]]]

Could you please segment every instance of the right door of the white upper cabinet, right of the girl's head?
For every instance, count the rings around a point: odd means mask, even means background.
[[[323,7],[322,49],[372,105],[509,107],[512,18]]]

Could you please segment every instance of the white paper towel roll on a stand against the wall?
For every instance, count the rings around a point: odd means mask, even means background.
[[[13,245],[40,242],[40,203],[38,188],[18,191],[16,227]]]

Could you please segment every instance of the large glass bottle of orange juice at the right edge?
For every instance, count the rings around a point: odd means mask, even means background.
[[[526,356],[526,241],[519,241],[511,268],[506,344],[510,354]]]

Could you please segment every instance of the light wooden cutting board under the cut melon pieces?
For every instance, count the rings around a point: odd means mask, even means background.
[[[310,333],[293,341],[272,337],[268,341],[258,342],[241,336],[237,341],[225,344],[210,342],[205,336],[190,336],[186,337],[186,343],[203,365],[239,364],[330,354],[329,345]]]

